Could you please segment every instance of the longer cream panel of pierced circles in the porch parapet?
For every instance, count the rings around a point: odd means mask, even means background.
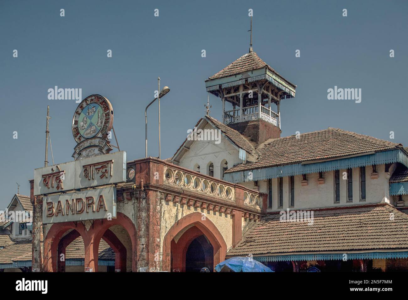
[[[165,166],[164,182],[182,187],[183,189],[235,202],[235,192],[232,185],[197,176],[197,174],[194,174],[193,172],[189,173],[180,169]]]

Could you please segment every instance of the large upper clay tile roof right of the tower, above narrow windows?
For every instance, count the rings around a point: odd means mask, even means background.
[[[239,164],[226,173],[313,160],[341,158],[372,151],[401,149],[402,145],[338,128],[277,138],[256,149],[257,160]]]

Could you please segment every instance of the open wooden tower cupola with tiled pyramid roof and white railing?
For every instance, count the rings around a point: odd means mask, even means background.
[[[251,135],[249,138],[256,144],[261,144],[268,138],[280,137],[280,102],[282,99],[295,97],[296,85],[260,59],[252,47],[249,53],[209,77],[205,83],[207,92],[222,100],[224,124],[242,134]],[[254,133],[252,130],[252,133],[248,133],[248,125],[255,120],[259,120],[258,132]],[[264,122],[268,125],[261,124]],[[270,130],[268,127],[271,127]],[[262,137],[260,131],[265,128],[269,133]]]

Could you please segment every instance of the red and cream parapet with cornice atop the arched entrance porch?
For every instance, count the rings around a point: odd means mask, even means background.
[[[157,158],[128,162],[126,174],[126,183],[117,187],[118,199],[121,200],[137,198],[138,191],[155,189],[163,192],[166,202],[197,209],[226,215],[241,211],[255,220],[266,213],[267,194]]]

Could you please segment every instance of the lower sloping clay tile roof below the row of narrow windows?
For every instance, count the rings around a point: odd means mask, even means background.
[[[319,209],[313,217],[308,225],[281,222],[279,213],[267,215],[227,256],[408,249],[408,216],[389,204]]]

